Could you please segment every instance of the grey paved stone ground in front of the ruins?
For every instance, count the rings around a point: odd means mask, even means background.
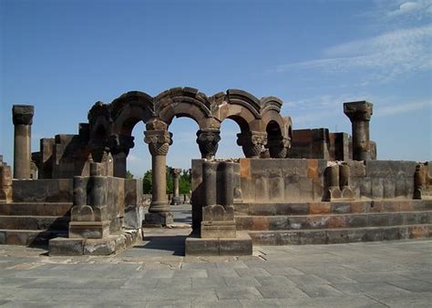
[[[112,257],[0,246],[0,305],[431,306],[432,241],[265,246],[251,257],[185,258],[189,231],[147,230],[146,241]]]

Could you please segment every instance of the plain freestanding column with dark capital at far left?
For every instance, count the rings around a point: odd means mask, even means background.
[[[14,178],[30,179],[31,169],[31,126],[35,108],[30,105],[14,105],[12,119],[15,126],[14,135]]]

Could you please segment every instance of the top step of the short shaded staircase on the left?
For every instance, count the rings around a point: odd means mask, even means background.
[[[0,215],[65,216],[72,206],[72,202],[0,203]]]

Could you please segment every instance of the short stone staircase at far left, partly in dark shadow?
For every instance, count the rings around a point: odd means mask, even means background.
[[[67,236],[72,202],[0,203],[0,244],[44,245]]]

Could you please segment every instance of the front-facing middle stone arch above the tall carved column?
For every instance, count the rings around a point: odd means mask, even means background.
[[[173,118],[191,118],[200,129],[212,128],[211,101],[193,87],[172,87],[154,98],[157,117],[170,126]]]

